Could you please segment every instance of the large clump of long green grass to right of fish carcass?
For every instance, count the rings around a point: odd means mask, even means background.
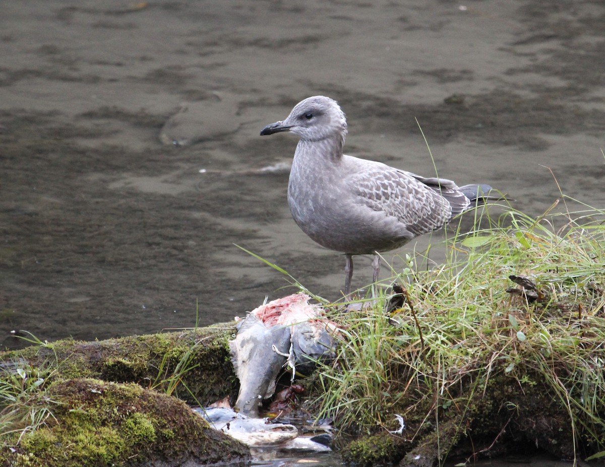
[[[341,345],[321,367],[319,416],[356,433],[393,429],[395,413],[438,426],[505,376],[521,391],[539,385],[553,394],[575,444],[602,451],[604,214],[587,208],[535,219],[509,210],[477,218],[485,229],[448,238],[444,264],[416,270],[407,258],[410,267],[392,278],[407,292],[401,310],[385,312],[387,287],[364,310],[335,315]],[[538,301],[508,293],[520,288],[511,275],[531,279]]]

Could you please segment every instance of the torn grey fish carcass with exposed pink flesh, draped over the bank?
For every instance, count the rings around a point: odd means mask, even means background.
[[[240,413],[258,416],[263,399],[275,392],[282,368],[309,371],[313,361],[334,358],[336,325],[325,318],[309,296],[295,293],[263,304],[241,322],[229,341],[240,393],[235,407]]]

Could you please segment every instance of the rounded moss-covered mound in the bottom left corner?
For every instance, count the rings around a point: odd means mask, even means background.
[[[246,463],[249,450],[209,427],[185,402],[136,384],[71,379],[47,391],[52,416],[0,466],[186,466]],[[13,449],[12,446],[16,446]]]

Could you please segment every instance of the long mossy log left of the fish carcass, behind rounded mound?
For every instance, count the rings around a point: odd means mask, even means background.
[[[0,366],[26,362],[32,368],[53,367],[55,380],[93,377],[134,382],[169,391],[189,403],[208,405],[227,395],[237,397],[239,383],[227,344],[233,333],[235,323],[226,323],[105,341],[63,339],[0,351]],[[172,378],[179,368],[187,371]]]

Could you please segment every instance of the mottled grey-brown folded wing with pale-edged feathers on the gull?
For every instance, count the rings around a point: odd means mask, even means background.
[[[396,217],[413,235],[431,232],[450,220],[450,203],[439,195],[438,185],[435,189],[408,172],[381,165],[364,171],[355,183],[360,203]],[[455,191],[448,186],[442,190]]]

